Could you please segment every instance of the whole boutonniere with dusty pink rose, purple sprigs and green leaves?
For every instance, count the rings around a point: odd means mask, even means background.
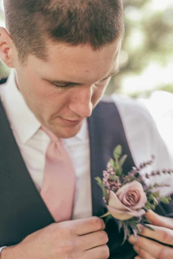
[[[107,163],[107,169],[103,171],[103,178],[96,177],[96,181],[103,192],[103,200],[107,205],[108,212],[101,216],[116,218],[119,223],[119,231],[123,228],[124,240],[134,233],[137,239],[137,233],[140,232],[137,224],[141,224],[146,228],[152,229],[146,224],[149,222],[145,217],[145,213],[149,210],[155,210],[159,202],[168,204],[171,200],[170,196],[161,197],[159,191],[154,191],[168,184],[157,184],[145,186],[143,177],[150,178],[155,175],[171,174],[173,170],[152,171],[150,174],[142,176],[140,174],[143,168],[150,166],[154,161],[151,160],[141,163],[139,167],[133,167],[127,175],[123,174],[122,166],[127,155],[122,156],[122,147],[118,145],[113,152],[114,159],[110,158]],[[123,244],[122,243],[122,244]]]

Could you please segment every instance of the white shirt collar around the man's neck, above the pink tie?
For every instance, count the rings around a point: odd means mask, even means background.
[[[39,130],[41,123],[28,108],[22,94],[18,90],[15,82],[14,69],[11,69],[3,90],[3,103],[11,128],[17,135],[19,141],[26,144]],[[84,140],[87,139],[87,137],[87,119],[85,119],[80,131],[73,138]]]

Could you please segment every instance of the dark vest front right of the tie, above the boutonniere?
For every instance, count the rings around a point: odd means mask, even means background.
[[[107,162],[110,157],[113,157],[113,150],[117,145],[121,145],[123,153],[128,155],[123,166],[124,173],[127,173],[134,166],[134,162],[119,112],[111,99],[109,99],[109,103],[100,102],[95,107],[92,116],[88,118],[88,125],[91,154],[92,209],[93,216],[101,216],[106,213],[107,208],[102,199],[101,188],[94,178],[96,176],[102,178],[102,171],[106,170]]]

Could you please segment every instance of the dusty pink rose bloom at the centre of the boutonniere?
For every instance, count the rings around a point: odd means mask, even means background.
[[[110,214],[120,220],[140,217],[145,214],[142,209],[147,202],[147,196],[141,183],[133,181],[124,184],[114,193],[110,191],[109,204],[107,206]]]

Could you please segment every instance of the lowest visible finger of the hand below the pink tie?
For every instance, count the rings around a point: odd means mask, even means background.
[[[83,257],[82,257],[83,258]],[[95,247],[85,251],[85,259],[107,259],[109,258],[109,248],[107,245]]]

